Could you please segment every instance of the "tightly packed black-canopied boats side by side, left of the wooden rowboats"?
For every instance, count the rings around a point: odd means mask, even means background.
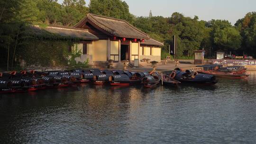
[[[70,71],[22,71],[0,73],[0,93],[13,93],[62,88],[77,83],[93,83],[129,86],[140,84],[148,72],[121,70],[70,70]]]

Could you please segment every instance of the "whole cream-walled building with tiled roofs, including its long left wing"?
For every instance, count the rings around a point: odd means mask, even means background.
[[[82,56],[77,61],[89,59],[91,64],[114,60],[147,58],[151,61],[161,61],[161,42],[151,39],[146,33],[130,25],[127,21],[94,14],[87,14],[73,27],[48,26],[34,27],[34,35],[38,36],[40,29],[49,33],[46,38],[75,39],[72,51],[77,47]],[[43,34],[45,35],[45,34]]]

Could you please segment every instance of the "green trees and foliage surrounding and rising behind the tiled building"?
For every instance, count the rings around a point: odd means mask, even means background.
[[[218,49],[243,50],[256,56],[256,12],[247,13],[232,26],[227,20],[202,21],[179,12],[165,18],[153,16],[150,10],[148,17],[136,17],[123,0],[91,0],[88,7],[85,0],[64,0],[62,4],[57,0],[0,0],[0,61],[10,68],[21,57],[38,65],[67,63],[64,49],[69,42],[30,37],[26,27],[73,26],[88,12],[127,20],[151,38],[165,42],[162,55],[169,53],[169,45],[173,47],[175,35],[178,57],[192,56],[198,49],[206,50],[208,56]]]

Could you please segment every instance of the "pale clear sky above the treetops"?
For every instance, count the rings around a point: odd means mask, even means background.
[[[62,3],[63,0],[58,0]],[[90,0],[85,0],[87,5]],[[195,15],[202,20],[227,19],[235,24],[247,12],[256,11],[256,0],[124,0],[129,5],[130,13],[136,16],[148,16],[150,9],[153,16],[170,17],[173,12],[180,12],[187,17]]]

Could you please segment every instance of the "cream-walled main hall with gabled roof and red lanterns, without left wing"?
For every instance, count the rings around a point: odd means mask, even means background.
[[[83,56],[90,57],[93,62],[114,60],[133,61],[149,58],[161,60],[161,42],[151,39],[146,33],[130,25],[127,21],[94,14],[87,14],[75,28],[88,29],[99,40],[78,44],[83,47]],[[85,52],[84,52],[85,51]]]

